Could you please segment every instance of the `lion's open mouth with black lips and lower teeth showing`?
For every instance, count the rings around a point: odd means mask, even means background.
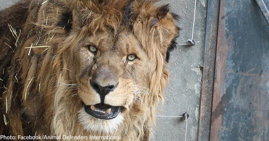
[[[98,119],[113,119],[119,115],[122,108],[121,106],[111,106],[104,103],[99,103],[95,105],[87,106],[85,104],[84,109],[85,111]]]

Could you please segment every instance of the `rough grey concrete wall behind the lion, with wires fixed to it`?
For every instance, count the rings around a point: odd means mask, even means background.
[[[17,0],[0,0],[0,10],[14,4]],[[206,0],[197,0],[194,27],[195,46],[178,45],[171,53],[170,84],[166,89],[165,104],[160,106],[162,116],[182,116],[189,113],[187,140],[197,140],[203,49],[205,36]],[[178,26],[182,28],[178,43],[186,43],[192,36],[192,24],[195,0],[168,0],[171,11],[180,15]],[[186,121],[175,117],[156,117],[152,140],[185,140]]]

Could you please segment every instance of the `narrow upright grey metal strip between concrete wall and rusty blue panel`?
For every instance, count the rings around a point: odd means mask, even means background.
[[[209,140],[220,0],[207,2],[198,140]]]

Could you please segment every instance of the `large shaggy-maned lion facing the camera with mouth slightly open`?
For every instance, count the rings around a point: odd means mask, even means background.
[[[23,0],[0,19],[2,135],[149,140],[180,30],[169,5]]]

